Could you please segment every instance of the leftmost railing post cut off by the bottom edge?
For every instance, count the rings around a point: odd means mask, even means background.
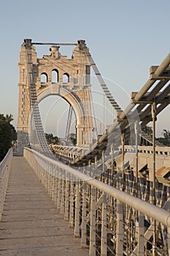
[[[96,189],[91,187],[90,203],[90,248],[89,255],[96,255]]]

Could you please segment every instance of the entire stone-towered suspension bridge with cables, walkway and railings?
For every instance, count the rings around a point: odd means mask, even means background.
[[[50,45],[50,55],[37,58],[35,45]],[[61,55],[65,45],[74,46],[72,59]],[[156,118],[170,102],[169,64],[170,54],[150,67],[123,110],[85,40],[24,39],[18,152],[0,165],[0,255],[170,255],[170,148],[155,140]],[[95,140],[90,68],[115,113]],[[76,146],[47,144],[39,102],[50,95],[69,102],[66,137],[74,112]],[[150,122],[152,138],[142,131]]]

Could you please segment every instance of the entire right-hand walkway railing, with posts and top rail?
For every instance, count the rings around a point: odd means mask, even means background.
[[[170,255],[169,200],[163,208],[24,148],[48,194],[89,255]],[[129,187],[131,189],[131,187]]]

